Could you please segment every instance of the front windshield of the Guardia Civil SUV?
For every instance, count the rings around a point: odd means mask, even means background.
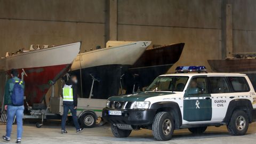
[[[162,76],[157,77],[146,91],[177,91],[182,92],[188,81],[187,76]]]

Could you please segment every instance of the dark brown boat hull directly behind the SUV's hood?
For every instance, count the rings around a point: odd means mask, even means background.
[[[127,70],[124,76],[124,89],[132,93],[133,87],[142,91],[154,79],[167,71],[180,59],[185,43],[172,44],[146,50],[145,53]]]

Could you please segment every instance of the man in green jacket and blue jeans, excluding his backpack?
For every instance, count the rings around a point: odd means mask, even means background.
[[[16,121],[17,121],[16,143],[21,143],[21,137],[22,137],[22,131],[23,131],[22,119],[23,119],[24,105],[21,105],[21,106],[13,105],[11,96],[12,96],[15,83],[19,83],[23,90],[25,89],[25,83],[18,78],[18,71],[15,69],[11,70],[11,77],[12,78],[10,78],[5,85],[5,93],[4,93],[5,107],[4,108],[5,110],[7,110],[7,124],[6,124],[6,135],[3,136],[3,139],[5,141],[11,140],[12,124],[14,121],[14,117],[16,116]]]

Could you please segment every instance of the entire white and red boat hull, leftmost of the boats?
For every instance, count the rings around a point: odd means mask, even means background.
[[[25,96],[30,106],[41,103],[51,87],[50,81],[56,82],[67,73],[71,63],[80,51],[81,42],[54,46],[46,49],[14,54],[5,59],[4,69],[10,73],[17,69],[21,76],[22,69],[26,72]]]

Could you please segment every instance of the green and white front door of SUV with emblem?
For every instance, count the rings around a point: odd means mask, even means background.
[[[211,121],[212,99],[206,76],[191,78],[183,98],[183,120],[188,122]]]

